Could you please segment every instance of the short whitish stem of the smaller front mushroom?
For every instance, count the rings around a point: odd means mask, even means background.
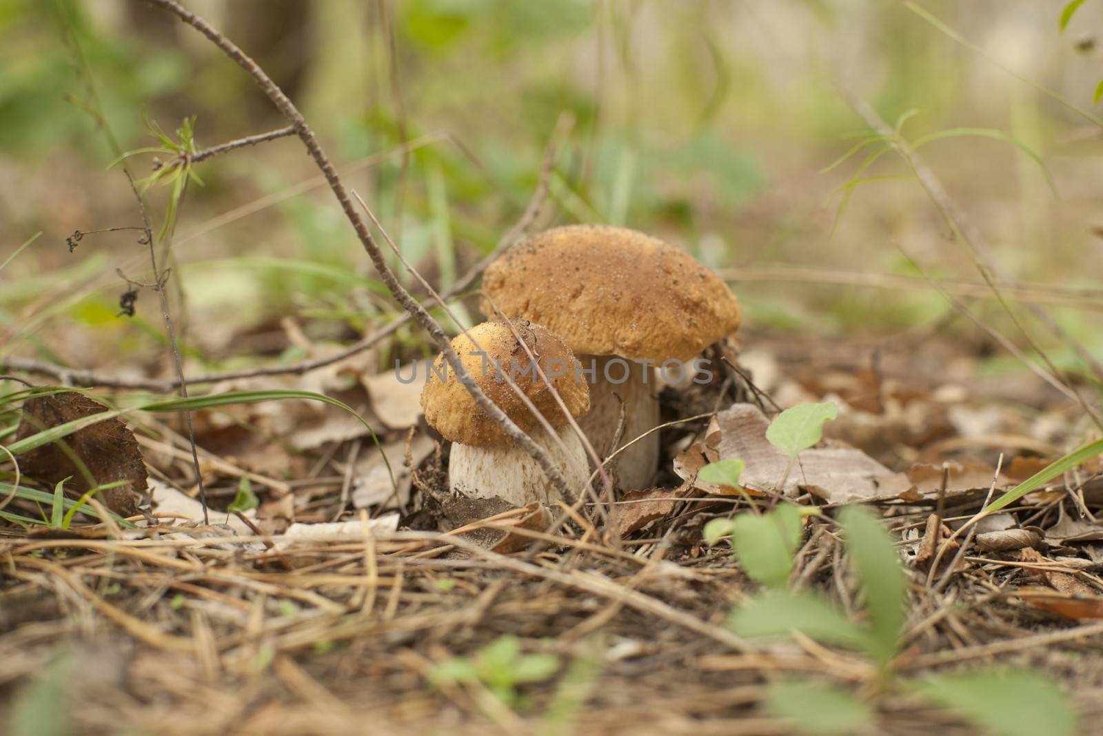
[[[559,468],[567,486],[578,494],[585,493],[590,471],[582,441],[569,425],[560,428],[558,435],[561,446],[544,429],[529,433],[533,441],[543,447]],[[552,504],[574,500],[560,497],[539,465],[518,447],[473,447],[452,442],[448,482],[452,491],[468,498],[496,495],[518,508],[533,501]]]

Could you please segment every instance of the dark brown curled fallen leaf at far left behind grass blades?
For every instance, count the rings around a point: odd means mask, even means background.
[[[29,398],[23,402],[23,417],[15,438],[25,439],[43,429],[107,410],[108,407],[76,392]],[[65,483],[65,492],[75,498],[97,486],[125,480],[126,484],[99,494],[108,509],[124,516],[138,513],[138,504],[148,489],[146,463],[138,441],[117,418],[105,419],[62,440],[24,452],[19,465],[25,474],[50,486],[71,477]]]

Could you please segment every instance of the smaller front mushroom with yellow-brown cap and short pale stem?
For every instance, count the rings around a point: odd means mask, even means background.
[[[525,346],[571,416],[581,416],[589,409],[589,387],[585,381],[576,381],[575,354],[559,338],[524,321],[514,322],[514,328],[525,345],[517,341],[505,322],[483,322],[452,340],[452,350],[460,356],[471,381],[544,447],[568,487],[580,492],[589,481],[589,463],[581,439],[570,428],[548,384],[534,370]],[[552,425],[554,437],[510,386],[507,376]],[[426,376],[421,408],[426,422],[452,441],[448,461],[452,491],[470,498],[496,495],[516,506],[533,501],[566,500],[560,499],[536,460],[479,408],[443,355],[437,356]]]

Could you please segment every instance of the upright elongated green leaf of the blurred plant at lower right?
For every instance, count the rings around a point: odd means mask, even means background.
[[[900,553],[881,522],[861,506],[843,509],[839,523],[866,594],[872,653],[884,664],[896,655],[904,619],[908,582],[900,566]]]

